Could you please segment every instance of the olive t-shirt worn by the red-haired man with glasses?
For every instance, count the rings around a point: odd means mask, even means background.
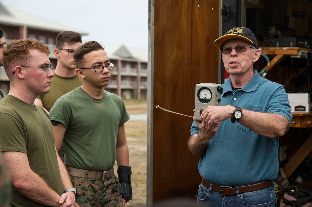
[[[0,129],[1,150],[26,153],[32,171],[61,195],[63,187],[55,140],[46,112],[39,106],[32,106],[12,95],[6,95],[0,100]],[[11,205],[46,206],[30,200],[14,186]]]

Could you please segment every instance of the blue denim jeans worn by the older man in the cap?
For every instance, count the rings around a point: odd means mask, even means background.
[[[236,186],[236,188],[237,187],[238,186]],[[236,190],[236,192],[238,191]],[[237,195],[221,195],[218,192],[212,191],[212,184],[209,189],[200,184],[197,203],[205,204],[209,207],[276,207],[277,198],[274,185],[259,191],[240,193]]]

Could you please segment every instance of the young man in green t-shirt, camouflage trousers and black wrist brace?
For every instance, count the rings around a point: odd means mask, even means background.
[[[122,99],[104,90],[114,63],[95,41],[78,47],[74,59],[83,84],[57,99],[51,108],[56,149],[63,143],[71,181],[82,195],[78,204],[124,207],[132,199],[124,128],[130,117]]]

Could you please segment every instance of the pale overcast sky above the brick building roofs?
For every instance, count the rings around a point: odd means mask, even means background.
[[[148,0],[0,1],[4,6],[89,33],[83,41],[148,47]]]

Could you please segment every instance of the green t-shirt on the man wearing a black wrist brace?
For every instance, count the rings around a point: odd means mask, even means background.
[[[59,98],[49,116],[66,128],[66,165],[91,171],[114,167],[118,127],[130,119],[119,96],[104,90],[95,99],[79,87]]]

